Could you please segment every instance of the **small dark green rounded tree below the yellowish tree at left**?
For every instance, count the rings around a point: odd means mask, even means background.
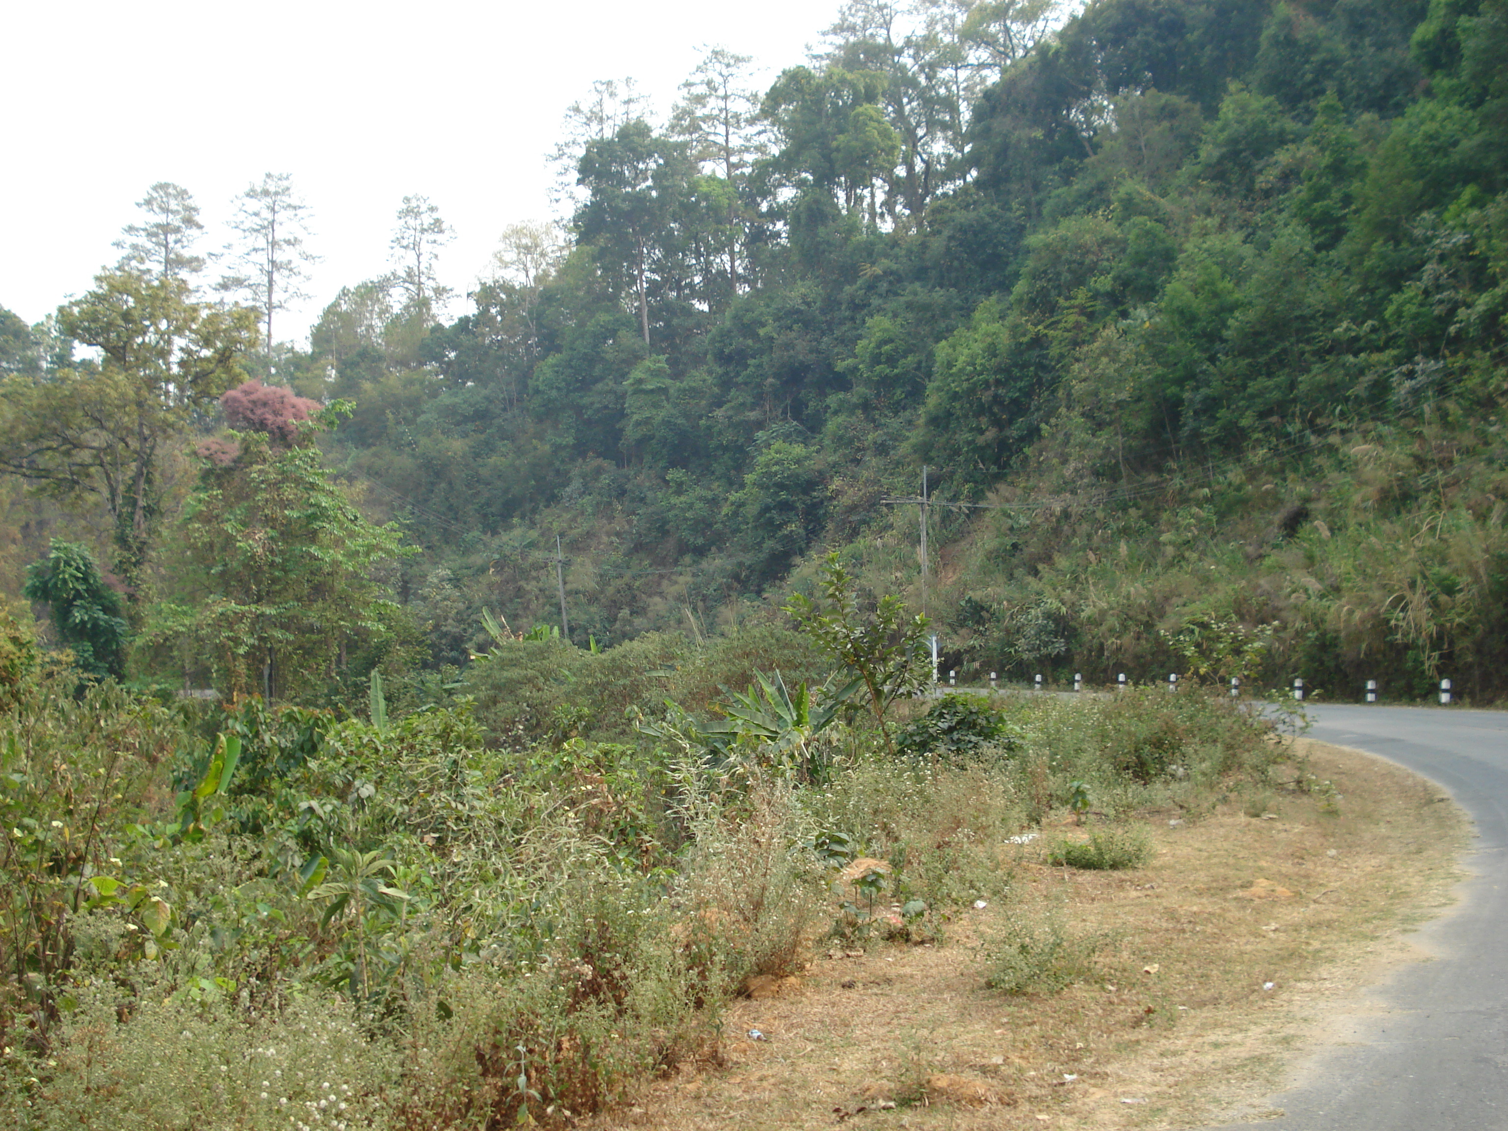
[[[87,546],[53,538],[47,556],[27,567],[21,596],[47,605],[57,642],[74,653],[80,671],[121,677],[130,629],[121,594],[106,584]]]

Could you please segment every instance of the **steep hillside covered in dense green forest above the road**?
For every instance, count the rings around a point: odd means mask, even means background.
[[[768,89],[727,51],[664,121],[600,83],[569,231],[449,306],[415,204],[308,351],[271,276],[223,306],[170,256],[8,320],[5,464],[60,501],[6,496],[9,584],[93,544],[106,668],[324,701],[464,665],[484,608],[584,648],[780,617],[838,550],[965,673],[1255,641],[1496,698],[1503,59],[1503,0],[861,0]]]

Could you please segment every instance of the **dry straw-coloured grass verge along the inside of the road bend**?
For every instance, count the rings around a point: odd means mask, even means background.
[[[1404,771],[1303,740],[1295,752],[1338,799],[1274,789],[1176,826],[1146,813],[1155,852],[1136,872],[1048,867],[1041,840],[1003,846],[1006,902],[959,912],[939,946],[820,953],[799,983],[734,1004],[718,1066],[657,1081],[590,1126],[1087,1129],[1256,1114],[1326,1001],[1407,961],[1399,935],[1449,902],[1466,837],[1460,810]],[[1108,932],[1092,979],[1051,995],[986,989],[983,944],[1006,917],[1054,911],[1071,930]]]

